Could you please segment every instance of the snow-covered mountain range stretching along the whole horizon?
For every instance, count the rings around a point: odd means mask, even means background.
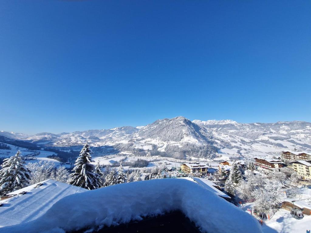
[[[92,147],[110,146],[136,155],[175,158],[243,158],[280,154],[294,148],[311,151],[311,123],[304,121],[246,124],[174,117],[139,127],[33,136],[1,131],[0,135],[39,146],[69,147],[88,142]]]

